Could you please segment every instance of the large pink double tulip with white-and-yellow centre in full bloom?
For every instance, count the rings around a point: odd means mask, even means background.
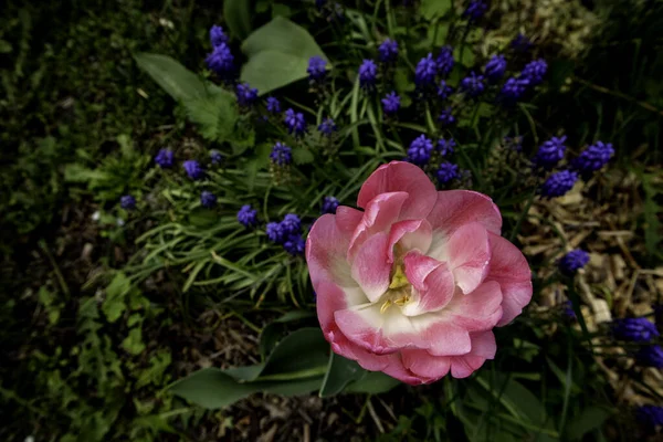
[[[465,378],[495,356],[493,327],[532,298],[525,256],[502,238],[493,201],[435,191],[408,162],[378,168],[364,211],[338,207],[313,225],[306,261],[332,349],[410,385]]]

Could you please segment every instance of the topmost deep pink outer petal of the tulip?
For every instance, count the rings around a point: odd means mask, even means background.
[[[399,191],[410,194],[403,204],[401,220],[425,218],[438,199],[435,186],[423,170],[410,162],[391,161],[368,177],[359,190],[357,206],[366,208],[380,193]]]

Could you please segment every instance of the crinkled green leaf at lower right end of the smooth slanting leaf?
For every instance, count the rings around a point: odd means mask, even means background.
[[[220,87],[206,96],[183,102],[191,122],[199,125],[200,135],[211,141],[232,138],[239,113],[234,96]]]

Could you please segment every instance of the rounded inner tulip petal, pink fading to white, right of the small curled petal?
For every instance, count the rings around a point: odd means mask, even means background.
[[[491,246],[486,229],[471,222],[456,229],[441,251],[442,261],[449,260],[456,285],[467,294],[485,278],[491,262]]]

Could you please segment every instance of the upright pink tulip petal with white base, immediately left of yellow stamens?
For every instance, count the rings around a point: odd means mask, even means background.
[[[391,264],[387,257],[388,245],[387,234],[376,233],[366,240],[352,262],[352,278],[371,303],[378,301],[389,288]]]

